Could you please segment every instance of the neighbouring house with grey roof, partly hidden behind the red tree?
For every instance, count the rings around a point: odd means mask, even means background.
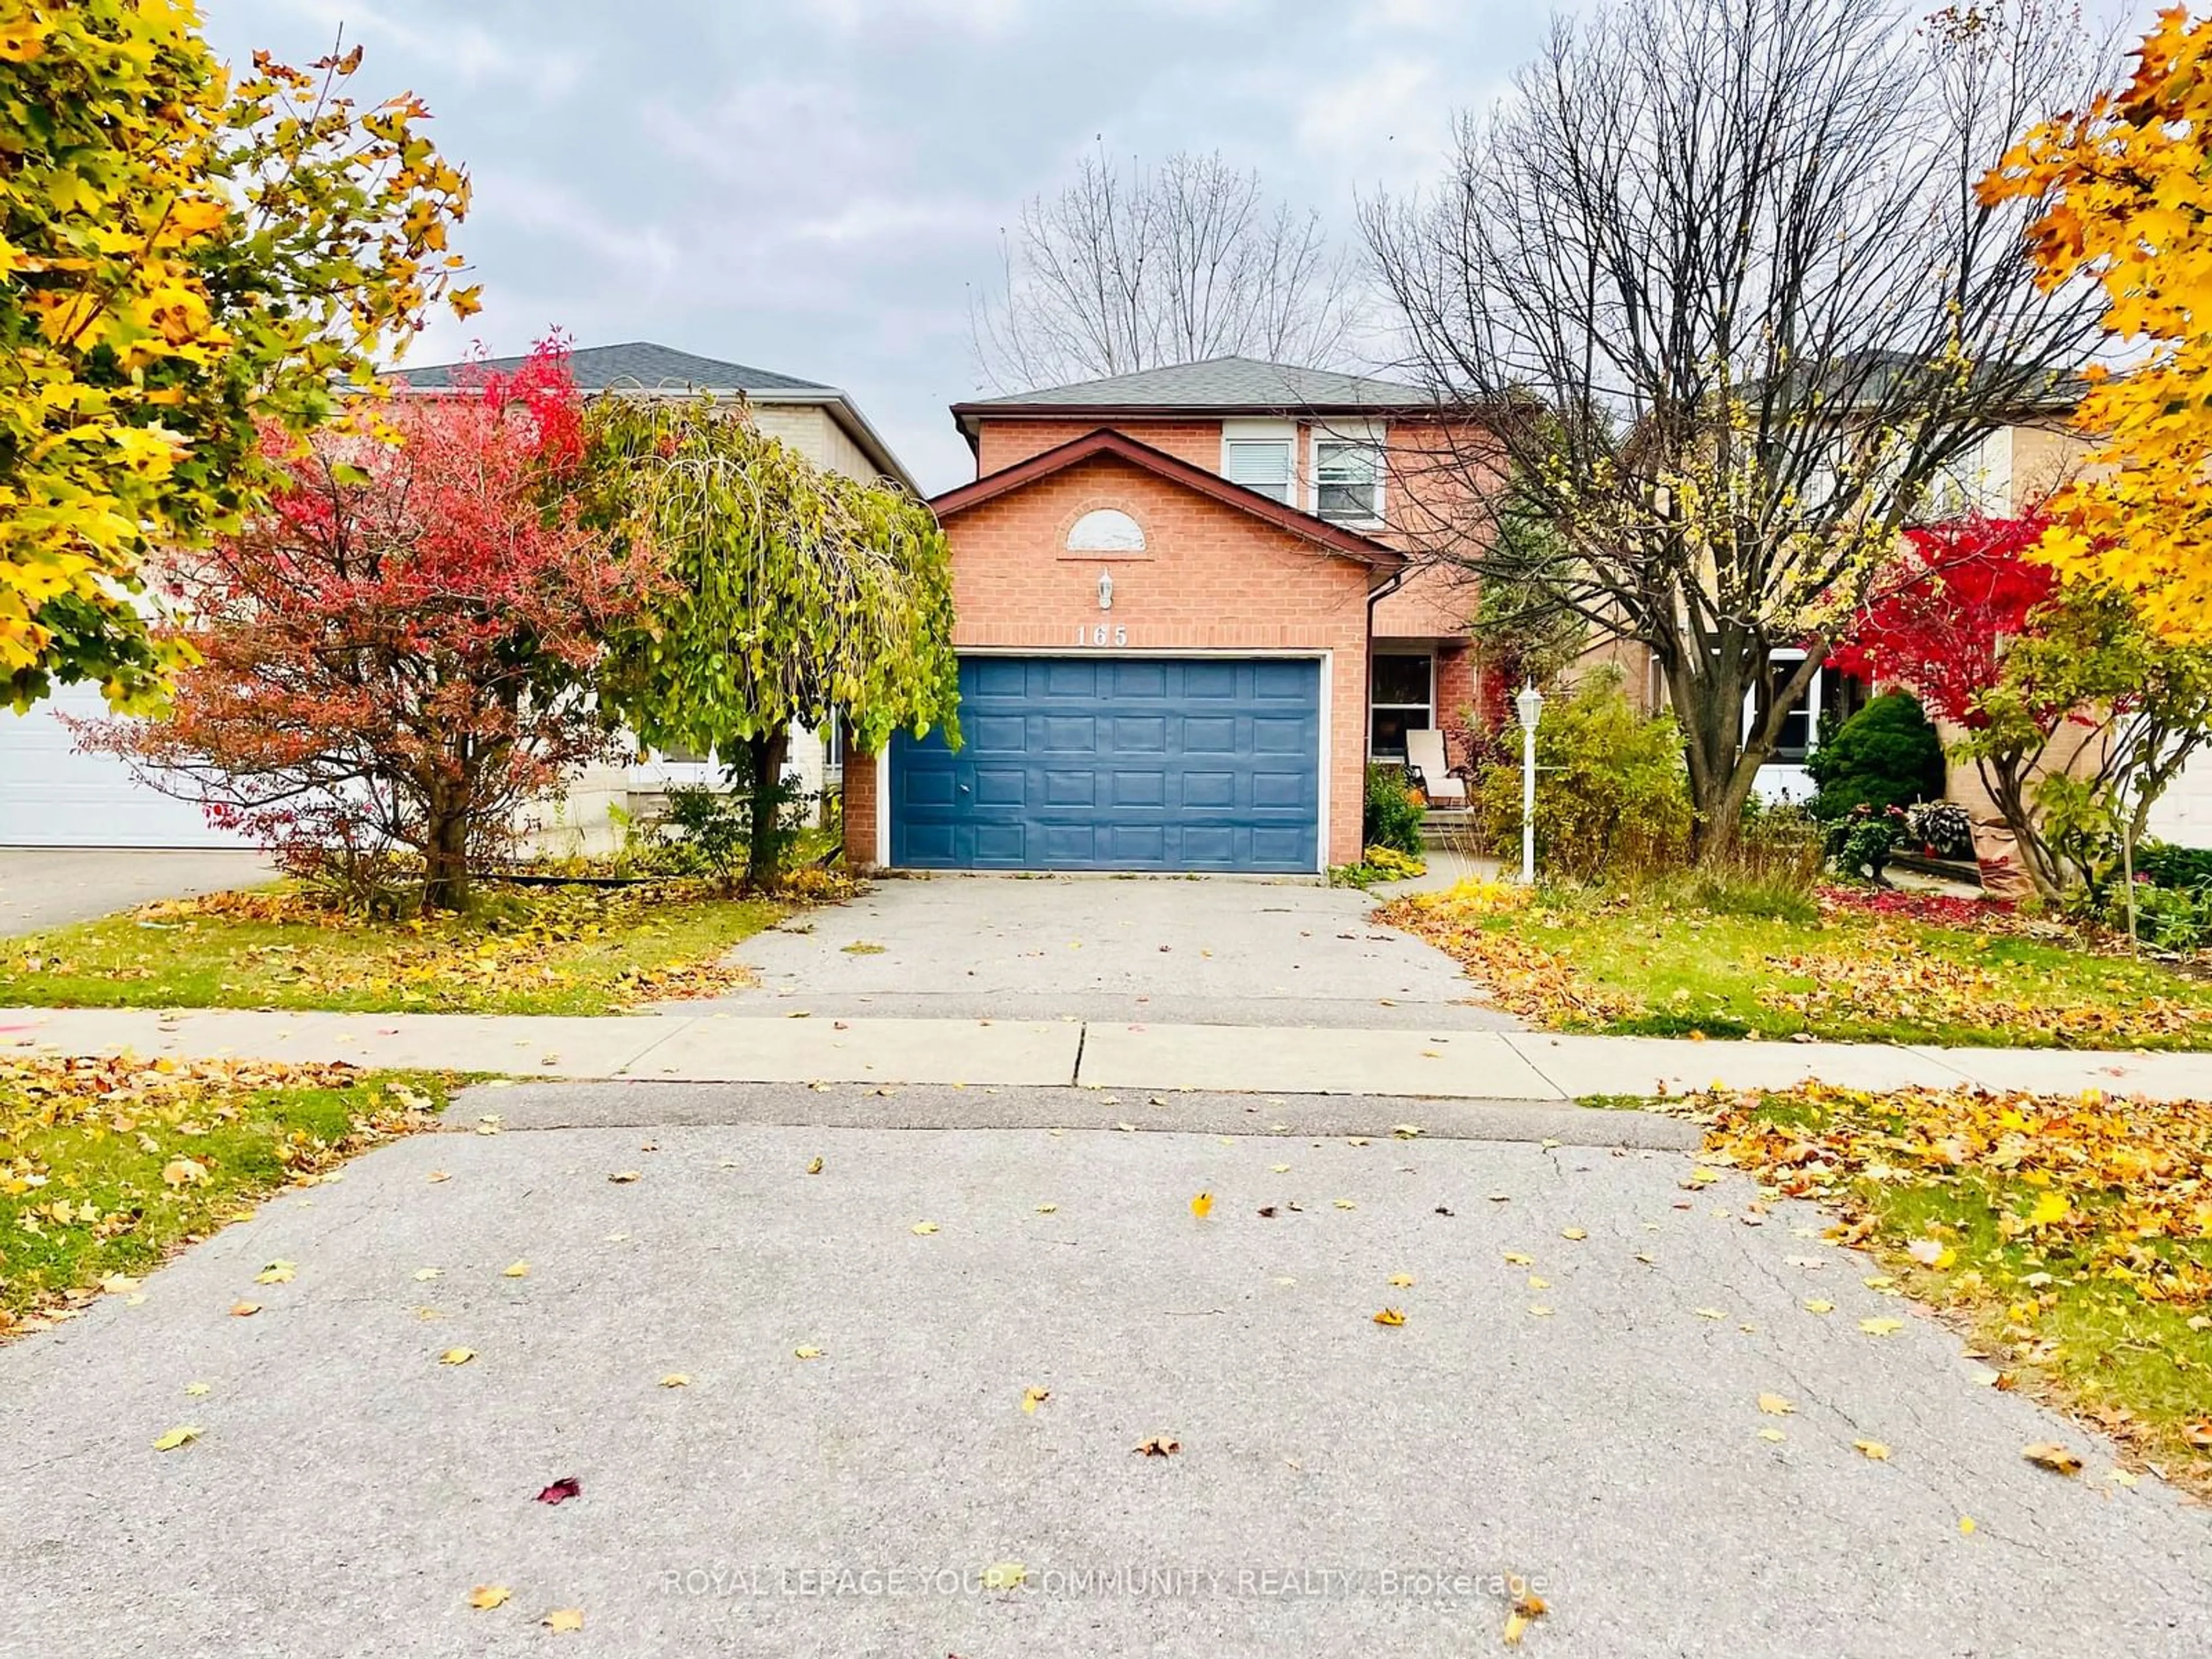
[[[522,358],[489,358],[480,367],[515,369]],[[889,478],[914,489],[914,478],[883,442],[849,396],[818,380],[752,369],[743,363],[675,352],[666,345],[588,345],[571,352],[571,372],[588,396],[743,398],[754,420],[818,467],[854,478]],[[465,363],[403,369],[409,394],[438,394],[456,385]],[[916,491],[918,493],[918,491]],[[142,785],[122,761],[77,754],[62,714],[100,717],[97,686],[64,686],[29,714],[0,710],[0,847],[237,847],[234,834],[212,830],[197,805],[173,801]],[[836,734],[823,743],[812,732],[792,734],[792,768],[810,792],[836,790],[841,754]],[[611,807],[648,807],[672,783],[706,783],[717,772],[703,757],[653,754],[633,765],[591,768],[560,801],[524,812],[529,841],[549,852],[597,849],[613,841]]]

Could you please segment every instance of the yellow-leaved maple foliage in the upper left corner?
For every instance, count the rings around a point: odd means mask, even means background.
[[[0,0],[0,706],[168,661],[146,564],[237,526],[436,301],[469,181],[361,49],[232,75],[190,0]]]

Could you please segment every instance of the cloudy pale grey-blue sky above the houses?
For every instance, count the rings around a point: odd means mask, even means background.
[[[1933,7],[1933,0],[1929,0]],[[657,341],[845,387],[940,491],[973,473],[971,288],[1020,204],[1097,144],[1219,148],[1349,239],[1358,192],[1438,177],[1455,108],[1542,0],[204,0],[288,62],[341,22],[363,97],[411,88],[476,179],[484,285],[416,363]],[[2093,11],[2148,11],[2093,0]]]

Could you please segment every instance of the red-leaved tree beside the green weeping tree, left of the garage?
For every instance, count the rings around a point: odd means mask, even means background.
[[[177,573],[199,664],[173,717],[82,741],[303,874],[411,849],[425,909],[460,907],[515,810],[611,750],[591,672],[650,553],[584,522],[560,341],[279,442],[272,509]]]

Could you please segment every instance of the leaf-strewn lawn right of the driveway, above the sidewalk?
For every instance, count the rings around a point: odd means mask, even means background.
[[[2208,978],[2044,936],[2000,909],[1924,909],[1942,920],[1882,914],[1843,891],[1792,918],[1666,891],[1524,896],[1469,883],[1400,900],[1383,920],[1559,1031],[2212,1048]]]

